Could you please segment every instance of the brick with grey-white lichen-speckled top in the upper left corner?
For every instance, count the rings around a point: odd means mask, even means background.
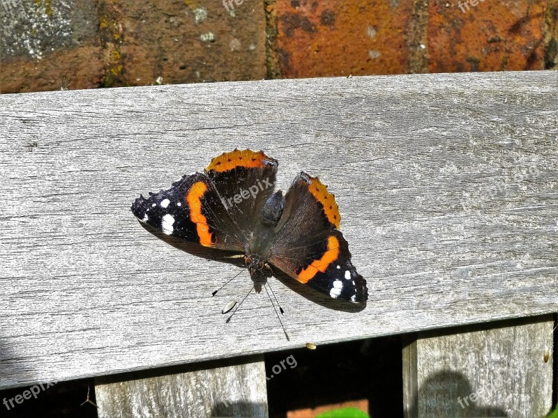
[[[3,1],[2,93],[94,88],[103,79],[96,10],[90,0]]]

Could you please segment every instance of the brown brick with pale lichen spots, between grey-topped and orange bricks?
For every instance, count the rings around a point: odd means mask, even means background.
[[[103,1],[105,85],[264,79],[263,3],[232,5],[227,11],[222,1]]]

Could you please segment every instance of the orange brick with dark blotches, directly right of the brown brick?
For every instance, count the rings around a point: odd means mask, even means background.
[[[409,72],[410,1],[277,0],[275,13],[283,77]]]

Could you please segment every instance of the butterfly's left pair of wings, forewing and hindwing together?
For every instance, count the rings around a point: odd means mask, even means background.
[[[276,182],[277,161],[262,151],[233,150],[204,173],[140,196],[132,212],[154,228],[204,247],[246,251],[254,224]]]

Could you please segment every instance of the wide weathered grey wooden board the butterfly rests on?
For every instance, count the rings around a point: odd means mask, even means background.
[[[557,84],[502,72],[0,96],[0,387],[556,311]],[[273,280],[290,341],[265,294],[225,323],[248,273],[211,297],[239,268],[138,224],[140,192],[236,146],[276,157],[282,189],[302,169],[329,185],[365,309]]]

